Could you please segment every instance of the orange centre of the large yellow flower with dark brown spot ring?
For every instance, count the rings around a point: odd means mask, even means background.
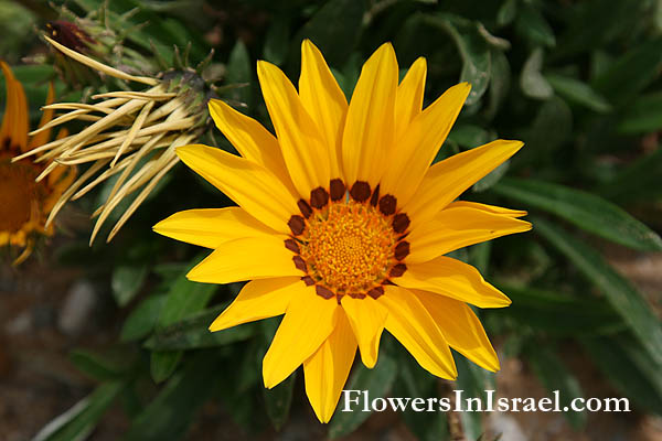
[[[401,261],[409,252],[403,240],[408,218],[396,213],[394,196],[380,198],[378,187],[372,191],[365,182],[355,183],[349,196],[340,180],[331,182],[330,194],[313,190],[310,201],[299,201],[301,216],[290,218],[292,237],[285,245],[318,294],[338,301],[345,294],[377,298],[389,277],[406,270]]]

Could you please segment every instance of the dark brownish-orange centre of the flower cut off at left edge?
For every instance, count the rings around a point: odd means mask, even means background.
[[[15,233],[39,209],[39,170],[30,163],[0,158],[0,232]]]

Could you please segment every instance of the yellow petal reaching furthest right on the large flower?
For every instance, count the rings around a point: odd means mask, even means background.
[[[428,261],[458,248],[530,229],[531,224],[525,220],[450,204],[407,236],[410,244],[407,263]]]

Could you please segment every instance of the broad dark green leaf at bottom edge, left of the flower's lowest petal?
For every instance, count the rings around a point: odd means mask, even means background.
[[[161,389],[132,421],[127,441],[163,441],[182,437],[197,409],[216,389],[218,359],[200,353]]]

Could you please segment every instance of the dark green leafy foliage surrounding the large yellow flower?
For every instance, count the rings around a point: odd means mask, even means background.
[[[78,13],[100,3],[67,2]],[[394,43],[403,73],[416,57],[427,57],[426,105],[447,87],[470,82],[471,95],[437,160],[495,138],[522,139],[521,153],[462,197],[527,209],[534,225],[532,233],[460,252],[513,300],[509,309],[481,312],[488,333],[505,342],[509,356],[530,362],[548,390],[559,389],[566,398],[583,394],[558,351],[569,347],[590,358],[640,411],[662,415],[659,314],[601,255],[606,243],[662,251],[655,233],[662,228],[655,217],[662,202],[655,135],[662,130],[662,3],[120,0],[110,8],[114,13],[137,8],[129,20],[145,24],[127,37],[141,53],[149,55],[152,42],[172,60],[172,44],[192,42],[192,60],[202,60],[213,47],[225,82],[246,84],[220,90],[222,98],[244,103],[246,112],[267,126],[255,61],[271,61],[296,79],[303,37],[327,55],[348,96],[362,62],[384,41]],[[43,10],[35,13],[38,21],[46,19]],[[4,40],[0,50],[8,51]],[[52,69],[23,66],[15,74],[32,95],[41,94]],[[43,96],[30,103],[43,103]],[[232,151],[220,133],[212,138]],[[207,333],[241,286],[186,281],[185,270],[200,260],[196,250],[148,233],[182,208],[229,204],[199,189],[205,189],[201,180],[178,170],[111,246],[63,252],[63,265],[87,267],[107,280],[128,316],[118,347],[72,354],[99,386],[38,439],[85,437],[114,400],[125,404],[131,419],[129,440],[179,439],[209,400],[224,402],[247,433],[269,422],[279,429],[290,406],[298,406],[292,395],[302,395],[300,378],[263,392],[261,357],[276,323]],[[355,366],[346,388],[369,389],[373,397],[438,396],[438,383],[392,343],[372,372]],[[458,359],[460,379],[450,388],[489,389],[491,375],[469,365]],[[136,401],[135,408],[127,405]],[[366,417],[337,413],[329,435],[346,434]],[[480,418],[462,418],[469,439],[480,437]],[[586,423],[583,413],[567,418],[575,428]],[[403,420],[420,439],[451,437],[444,415],[412,412]]]

